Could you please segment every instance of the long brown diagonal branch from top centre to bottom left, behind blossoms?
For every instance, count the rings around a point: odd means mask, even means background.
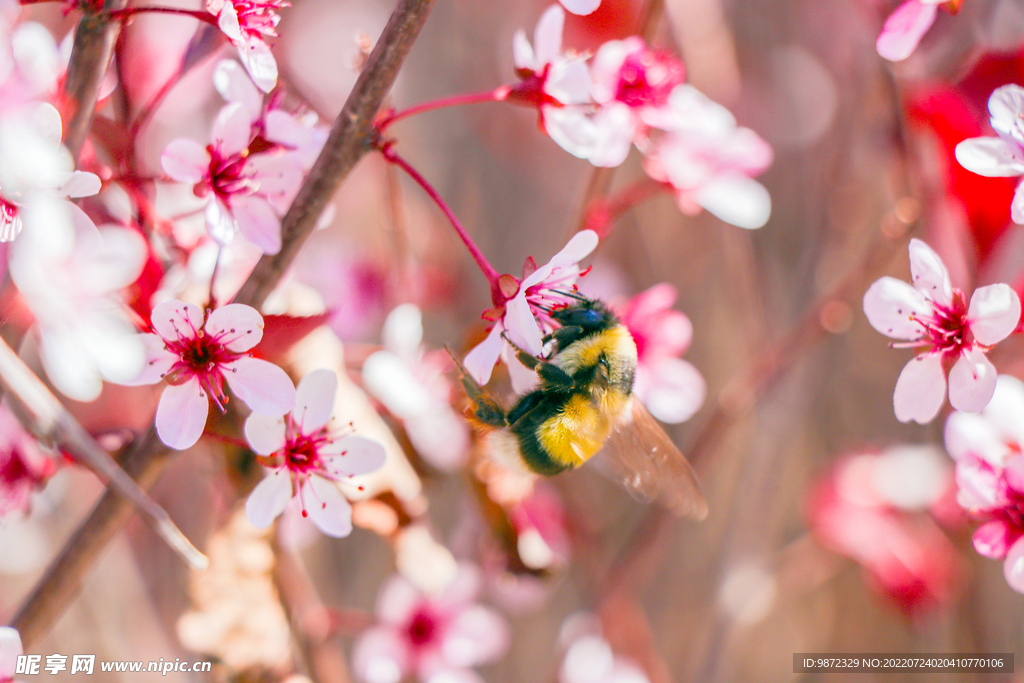
[[[371,150],[374,117],[426,22],[432,4],[433,0],[399,0],[338,115],[324,151],[282,221],[284,244],[281,253],[260,259],[236,296],[237,302],[253,306],[262,303],[312,232],[316,219],[335,190],[356,162]],[[145,488],[163,471],[168,455],[168,450],[151,427],[132,444],[123,466]],[[20,631],[26,647],[42,636],[63,611],[78,593],[82,577],[130,515],[128,501],[108,489],[14,617],[12,626]]]

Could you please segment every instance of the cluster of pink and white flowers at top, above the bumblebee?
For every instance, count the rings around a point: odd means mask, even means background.
[[[767,142],[685,84],[683,63],[671,52],[631,37],[605,43],[588,65],[563,49],[563,24],[554,5],[538,22],[532,45],[516,34],[521,80],[509,100],[537,108],[544,131],[595,166],[618,166],[636,145],[648,175],[675,193],[687,215],[707,209],[745,228],[768,221],[771,200],[753,179],[771,165]]]

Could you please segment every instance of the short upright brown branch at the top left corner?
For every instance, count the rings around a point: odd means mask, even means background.
[[[88,9],[89,3],[82,4],[86,10],[75,29],[75,42],[65,81],[65,94],[75,105],[65,131],[65,145],[75,159],[78,159],[89,134],[89,124],[99,98],[99,86],[121,33],[122,23],[112,17],[111,13],[127,7],[128,0],[105,0],[99,11]]]

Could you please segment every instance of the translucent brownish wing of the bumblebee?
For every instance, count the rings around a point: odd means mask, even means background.
[[[708,515],[693,468],[637,398],[598,460],[634,497],[656,502],[682,517]]]

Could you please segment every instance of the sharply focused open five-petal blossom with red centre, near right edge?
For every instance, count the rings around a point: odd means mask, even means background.
[[[896,382],[893,405],[900,422],[931,422],[949,402],[968,413],[985,408],[995,391],[995,368],[985,356],[1020,321],[1021,303],[1009,285],[989,285],[967,297],[949,282],[942,259],[921,240],[910,241],[910,286],[877,281],[864,294],[864,313],[876,330],[920,352]]]

